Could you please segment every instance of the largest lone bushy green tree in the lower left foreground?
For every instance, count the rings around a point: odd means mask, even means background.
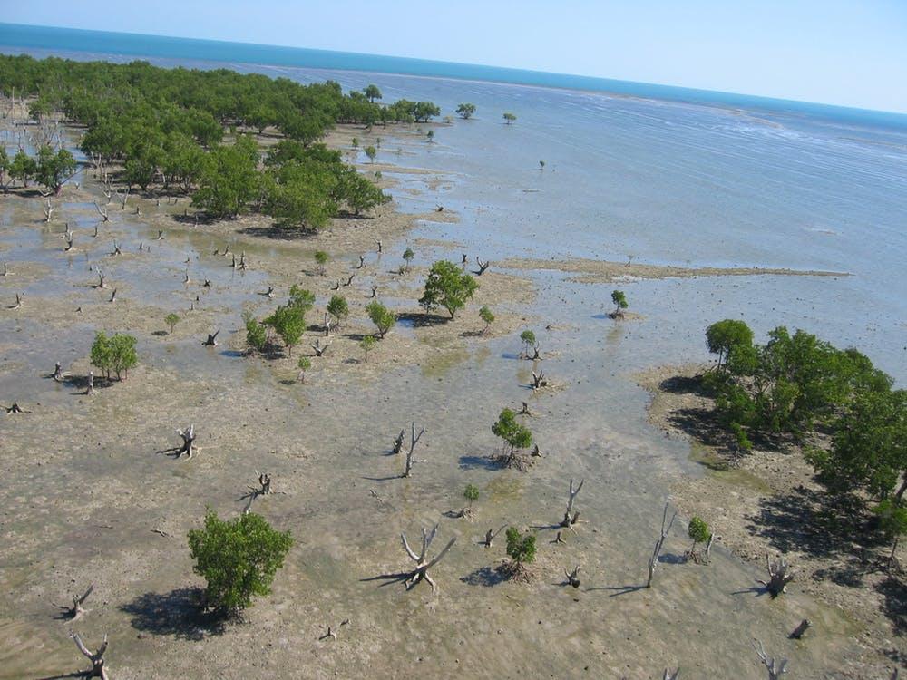
[[[189,531],[194,571],[208,582],[208,607],[232,616],[249,607],[252,596],[268,595],[292,545],[289,531],[273,529],[254,512],[221,520],[209,509],[204,528]]]

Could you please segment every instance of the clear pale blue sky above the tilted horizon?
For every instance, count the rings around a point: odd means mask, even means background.
[[[907,0],[0,0],[2,21],[574,73],[907,112]]]

